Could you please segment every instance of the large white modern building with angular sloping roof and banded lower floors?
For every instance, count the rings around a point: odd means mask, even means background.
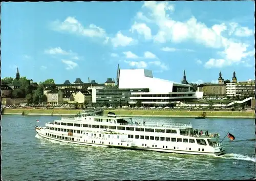
[[[130,104],[140,101],[147,105],[168,105],[203,97],[203,92],[192,92],[192,87],[188,84],[155,78],[152,71],[145,69],[118,69],[117,82],[121,89],[149,89],[149,92],[132,92]]]

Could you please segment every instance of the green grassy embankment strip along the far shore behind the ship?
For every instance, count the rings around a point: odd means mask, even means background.
[[[127,117],[180,117],[195,118],[202,111],[188,110],[104,110],[103,115],[114,112],[118,116]],[[80,110],[69,109],[5,109],[3,115],[42,115],[42,116],[75,116]],[[253,111],[206,111],[206,118],[255,118]]]

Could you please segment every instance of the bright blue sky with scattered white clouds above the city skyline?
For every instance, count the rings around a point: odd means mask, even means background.
[[[254,2],[1,4],[1,76],[103,83],[120,69],[215,82],[254,79]]]

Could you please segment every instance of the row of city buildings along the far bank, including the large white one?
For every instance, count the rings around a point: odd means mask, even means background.
[[[16,74],[16,78],[19,78],[19,74],[18,77]],[[36,87],[32,81],[31,85]],[[6,87],[7,91],[19,88],[11,85],[1,85],[1,87]],[[225,83],[220,73],[218,84],[203,83],[195,90],[188,84],[185,71],[183,80],[178,83],[155,78],[150,70],[120,70],[118,65],[116,82],[114,78],[108,78],[105,83],[98,84],[95,80],[90,81],[88,78],[88,83],[84,83],[77,78],[73,83],[66,80],[63,84],[44,85],[44,87],[48,104],[86,102],[93,106],[122,106],[138,103],[144,106],[170,106],[179,101],[198,100],[203,96],[231,97],[254,93],[255,81],[237,82],[234,72],[232,82]]]

